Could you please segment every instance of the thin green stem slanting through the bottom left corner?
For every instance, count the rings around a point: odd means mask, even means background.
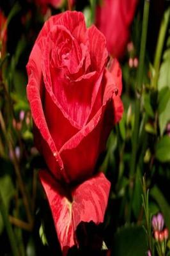
[[[8,238],[9,238],[10,245],[11,245],[11,248],[12,248],[12,254],[13,254],[13,256],[19,256],[17,243],[15,241],[15,236],[14,236],[13,230],[12,230],[12,225],[9,221],[8,212],[6,211],[6,207],[4,205],[1,193],[0,193],[0,211],[1,211],[1,214],[2,214],[2,217],[3,217],[4,226],[6,228],[6,232],[8,234]]]

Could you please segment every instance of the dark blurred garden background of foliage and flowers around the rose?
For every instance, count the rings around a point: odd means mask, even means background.
[[[112,185],[105,222],[87,225],[86,234],[80,227],[78,235],[89,247],[89,240],[100,244],[102,239],[106,247],[101,255],[143,256],[149,249],[152,255],[170,255],[166,237],[164,252],[158,253],[156,245],[163,242],[151,227],[151,216],[162,212],[164,228],[170,230],[170,2],[150,1],[141,90],[137,81],[144,2],[1,0],[0,255],[15,255],[15,246],[17,255],[61,255],[38,180],[45,163],[33,142],[26,64],[45,20],[68,9],[83,12],[87,26],[96,24],[104,33],[109,54],[118,58],[123,73],[123,118],[98,159]],[[83,255],[81,248],[69,253]]]

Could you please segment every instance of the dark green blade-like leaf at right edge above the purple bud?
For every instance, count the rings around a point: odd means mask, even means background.
[[[166,227],[168,228],[168,230],[170,230],[170,206],[167,203],[166,198],[157,186],[154,186],[150,190],[150,196],[154,198],[155,202],[157,202],[158,206],[160,207],[160,211],[164,216]]]

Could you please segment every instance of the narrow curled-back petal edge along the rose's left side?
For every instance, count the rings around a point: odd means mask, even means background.
[[[38,44],[35,44],[27,64],[27,73],[29,76],[29,81],[27,83],[27,99],[29,100],[29,104],[31,106],[31,114],[33,116],[35,125],[40,131],[43,140],[46,141],[45,143],[48,145],[45,145],[45,147],[48,151],[50,148],[50,151],[54,157],[56,166],[56,170],[54,172],[57,173],[57,170],[62,170],[62,175],[66,180],[68,180],[65,176],[65,171],[63,170],[63,162],[58,154],[54,140],[52,140],[43,112],[41,99],[43,95],[42,72],[40,67],[41,58],[42,52],[40,51]]]

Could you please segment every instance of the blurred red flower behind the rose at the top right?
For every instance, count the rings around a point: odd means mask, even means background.
[[[116,58],[125,53],[138,0],[103,0],[97,7],[96,26],[104,33],[107,50]]]

